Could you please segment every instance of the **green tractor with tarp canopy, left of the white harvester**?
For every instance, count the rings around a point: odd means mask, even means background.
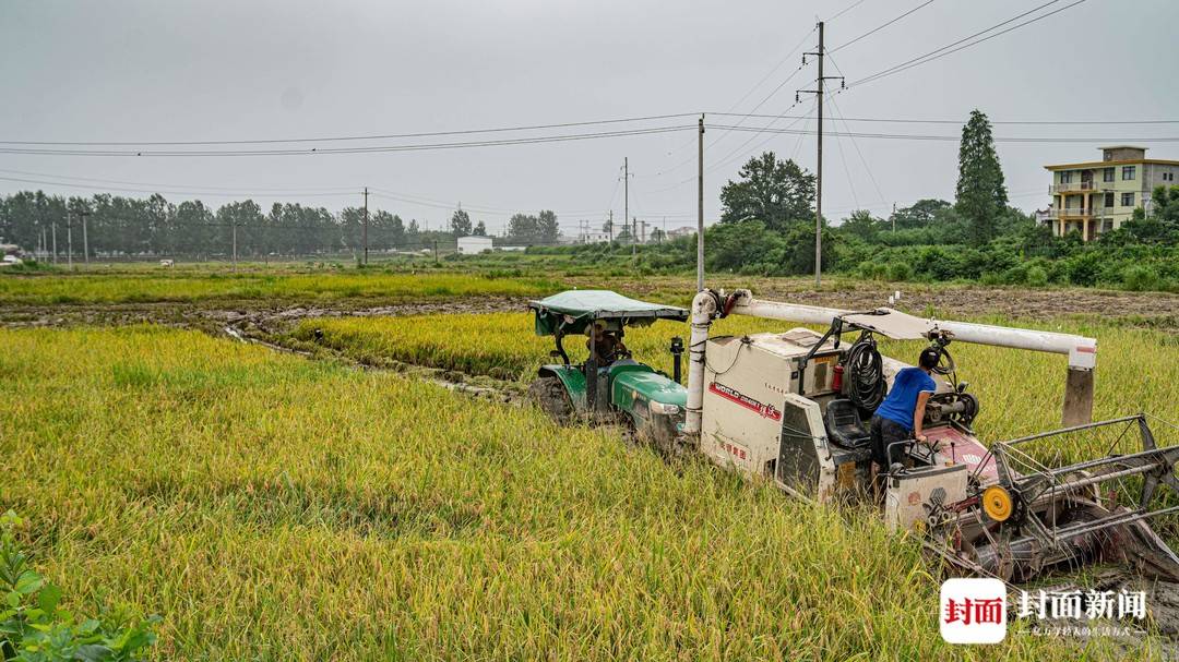
[[[673,375],[668,377],[631,358],[623,337],[628,326],[650,326],[659,319],[685,322],[686,309],[607,290],[571,290],[531,302],[528,307],[536,316],[536,335],[554,338],[556,349],[551,356],[561,360],[542,365],[528,389],[546,413],[560,424],[621,421],[660,446],[672,446],[687,404],[687,391],[679,383],[684,342],[671,340]],[[567,336],[586,338],[585,362],[569,360]]]

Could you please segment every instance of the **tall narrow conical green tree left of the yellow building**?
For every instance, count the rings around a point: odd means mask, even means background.
[[[982,245],[994,239],[999,217],[1007,207],[1007,186],[990,120],[977,110],[962,127],[956,192],[955,208],[967,221],[971,241]]]

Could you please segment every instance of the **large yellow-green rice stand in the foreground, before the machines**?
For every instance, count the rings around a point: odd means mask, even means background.
[[[162,614],[160,660],[1159,655],[949,647],[913,538],[610,429],[190,331],[0,343],[0,508],[68,608]]]

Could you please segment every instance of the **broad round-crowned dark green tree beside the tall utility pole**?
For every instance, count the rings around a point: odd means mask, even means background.
[[[783,231],[792,221],[815,216],[815,176],[773,152],[749,160],[720,188],[722,223],[757,219],[769,230]]]

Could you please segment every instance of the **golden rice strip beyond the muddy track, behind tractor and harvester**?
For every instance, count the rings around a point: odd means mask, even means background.
[[[974,322],[1095,337],[1099,351],[1094,419],[1146,411],[1179,423],[1179,338],[1174,335],[1080,319],[1042,323],[989,317]],[[552,360],[548,352],[553,347],[553,339],[535,336],[532,324],[532,316],[523,310],[519,313],[324,318],[302,322],[292,337],[310,343],[315,330],[321,330],[322,344],[364,362],[391,358],[474,375],[506,369],[514,378],[531,380],[536,368]],[[717,322],[712,332],[743,335],[788,327],[773,320],[730,317]],[[631,329],[625,342],[635,359],[671,373],[667,346],[672,336],[686,339],[687,324],[661,322],[647,329]],[[565,344],[573,360],[585,357],[582,338],[571,337]],[[907,363],[916,363],[922,346],[920,342],[885,339],[881,350]],[[963,343],[951,344],[949,349],[959,365],[959,378],[970,384],[970,392],[981,402],[982,413],[976,419],[976,429],[986,441],[1060,426],[1067,366],[1063,356]],[[1179,430],[1162,423],[1154,428],[1160,443],[1179,443]]]

